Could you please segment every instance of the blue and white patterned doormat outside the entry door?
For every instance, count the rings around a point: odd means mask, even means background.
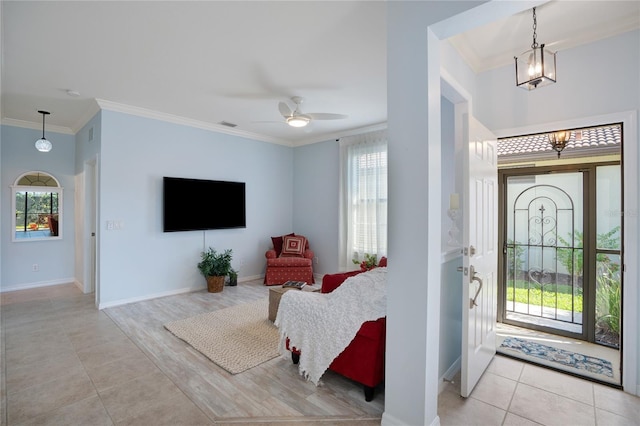
[[[551,366],[553,363],[557,363],[565,367],[581,370],[582,372],[601,374],[613,378],[613,366],[611,362],[602,358],[565,351],[564,349],[541,345],[540,343],[518,339],[517,337],[505,338],[500,348],[505,348],[505,353],[515,352],[514,356],[518,356],[517,353],[519,352],[522,355],[549,361]]]

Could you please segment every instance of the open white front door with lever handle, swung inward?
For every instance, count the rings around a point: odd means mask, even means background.
[[[465,124],[460,394],[466,398],[496,353],[498,166],[496,137],[471,116]]]

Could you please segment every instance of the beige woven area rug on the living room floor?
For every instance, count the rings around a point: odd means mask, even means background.
[[[231,374],[277,356],[278,328],[267,319],[269,300],[173,321],[164,327]]]

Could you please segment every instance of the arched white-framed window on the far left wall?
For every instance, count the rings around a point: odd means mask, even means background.
[[[13,241],[62,238],[62,187],[45,172],[27,172],[11,186]]]

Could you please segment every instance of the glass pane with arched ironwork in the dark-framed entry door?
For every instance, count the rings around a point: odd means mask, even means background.
[[[505,319],[583,333],[583,174],[507,178]]]

